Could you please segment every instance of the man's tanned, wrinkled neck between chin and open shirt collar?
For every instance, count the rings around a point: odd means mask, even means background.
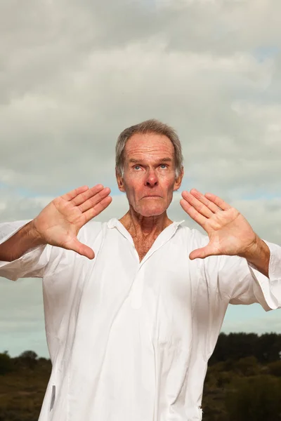
[[[145,217],[129,208],[129,211],[119,220],[129,231],[131,236],[158,236],[160,232],[171,225],[173,221],[168,218],[166,211],[161,215]]]

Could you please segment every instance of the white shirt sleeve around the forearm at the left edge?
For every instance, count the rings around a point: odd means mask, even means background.
[[[0,224],[0,244],[18,232],[30,220]],[[19,278],[42,278],[50,260],[52,246],[44,244],[27,250],[12,262],[0,260],[0,276],[16,281]]]

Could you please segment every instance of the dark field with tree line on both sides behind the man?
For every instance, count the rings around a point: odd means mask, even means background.
[[[203,420],[281,421],[280,356],[281,335],[221,334],[204,384]],[[0,421],[37,421],[50,373],[51,361],[32,351],[0,354]]]

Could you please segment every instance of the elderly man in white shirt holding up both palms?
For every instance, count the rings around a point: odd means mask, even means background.
[[[119,135],[116,175],[129,201],[120,220],[90,222],[112,200],[96,185],[1,225],[0,275],[43,278],[53,369],[39,420],[201,420],[228,303],[281,307],[281,247],[196,189],[181,206],[208,235],[168,218],[183,166],[164,123]]]

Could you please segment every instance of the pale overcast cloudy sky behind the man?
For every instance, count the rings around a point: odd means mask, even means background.
[[[183,189],[212,192],[281,244],[280,0],[3,0],[0,222],[115,181],[121,131],[155,118],[181,139]],[[174,195],[172,220],[202,228]],[[230,306],[222,330],[281,333],[281,312]],[[41,279],[0,278],[0,352],[48,357]]]

